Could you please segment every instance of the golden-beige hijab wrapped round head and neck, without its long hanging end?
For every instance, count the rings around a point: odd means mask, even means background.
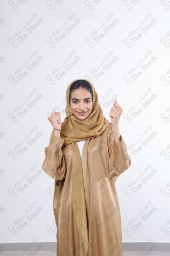
[[[103,111],[98,101],[98,94],[95,92],[93,84],[87,79],[81,78],[81,80],[85,80],[91,84],[93,92],[92,111],[84,120],[81,120],[72,114],[69,104],[69,88],[76,80],[70,82],[66,91],[66,117],[61,124],[60,133],[60,138],[64,139],[63,146],[72,142],[97,137],[105,131],[106,127],[110,123],[109,120],[103,116]]]

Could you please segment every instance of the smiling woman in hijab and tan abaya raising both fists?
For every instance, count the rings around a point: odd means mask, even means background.
[[[65,112],[62,123],[59,112],[48,117],[54,130],[42,164],[55,179],[57,256],[122,256],[115,181],[131,165],[119,134],[123,109],[114,101],[109,122],[93,84],[78,79],[67,87]]]

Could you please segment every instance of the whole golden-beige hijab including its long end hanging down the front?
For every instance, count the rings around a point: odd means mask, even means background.
[[[76,79],[77,80],[77,79]],[[71,84],[76,81],[70,82],[66,91],[66,117],[61,124],[60,138],[64,139],[63,146],[75,143],[81,140],[87,140],[94,138],[102,134],[106,127],[109,125],[109,120],[103,116],[103,111],[98,101],[98,94],[95,92],[93,84],[91,84],[93,91],[93,104],[90,115],[84,120],[80,120],[71,113],[69,104],[69,89]],[[76,168],[74,179],[72,181],[71,191],[71,203],[75,213],[77,226],[79,233],[86,251],[86,255],[89,255],[89,242],[88,242],[88,229],[87,229],[87,215],[86,215],[86,204],[85,204],[85,189],[83,180],[83,170],[79,147],[76,144]]]

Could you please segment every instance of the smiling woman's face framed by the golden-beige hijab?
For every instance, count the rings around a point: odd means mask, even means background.
[[[84,120],[92,111],[91,93],[85,88],[75,89],[70,95],[70,107],[74,116]]]

